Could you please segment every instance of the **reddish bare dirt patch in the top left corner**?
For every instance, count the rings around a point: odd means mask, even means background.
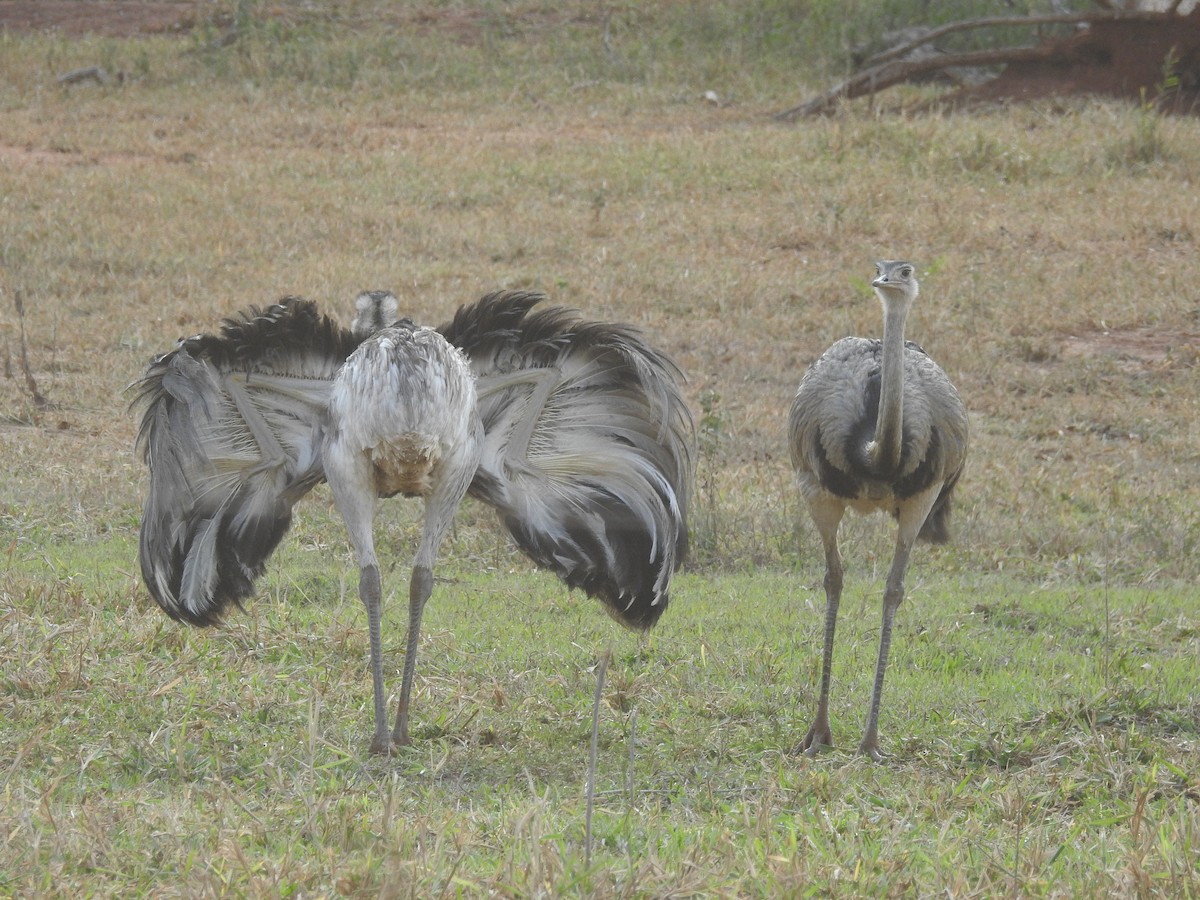
[[[175,34],[194,28],[205,8],[194,0],[0,0],[0,30],[107,37]]]

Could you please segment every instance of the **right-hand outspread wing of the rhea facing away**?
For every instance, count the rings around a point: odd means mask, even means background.
[[[678,367],[626,325],[497,292],[440,330],[478,376],[470,492],[521,550],[646,629],[688,550],[694,426]]]

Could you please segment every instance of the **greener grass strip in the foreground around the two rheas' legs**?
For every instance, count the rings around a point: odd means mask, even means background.
[[[7,890],[1198,888],[1186,590],[1096,596],[918,564],[886,692],[892,756],[876,766],[846,748],[869,692],[877,582],[852,580],[842,607],[842,749],[806,760],[794,746],[820,664],[811,578],[683,576],[638,643],[547,576],[449,564],[426,617],[416,743],[384,762],[364,752],[354,574],[304,554],[286,552],[264,596],[218,631],[131,604],[132,575],[114,583],[91,554],[49,551],[49,582],[25,566],[5,576],[29,598],[0,631]],[[392,682],[401,607],[390,598]],[[590,695],[608,647],[586,863]]]

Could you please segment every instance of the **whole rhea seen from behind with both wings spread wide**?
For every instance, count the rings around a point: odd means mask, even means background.
[[[367,292],[347,330],[287,298],[180,341],[137,383],[149,467],[139,557],[173,618],[221,620],[328,480],[367,608],[371,750],[409,742],[421,613],[463,494],[492,505],[521,550],[622,624],[648,629],[686,552],[694,428],[682,374],[635,329],[534,310],[496,292],[438,330]],[[389,732],[373,544],[377,498],[422,497],[408,641]]]

